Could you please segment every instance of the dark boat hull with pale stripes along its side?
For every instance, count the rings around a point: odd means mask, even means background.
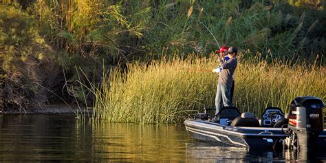
[[[286,138],[281,128],[231,127],[207,120],[188,119],[184,122],[186,130],[196,140],[223,142],[247,148],[272,149],[276,142]]]

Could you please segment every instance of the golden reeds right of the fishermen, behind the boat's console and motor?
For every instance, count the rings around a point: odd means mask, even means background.
[[[268,65],[255,60],[240,63],[235,79],[235,105],[260,116],[265,107],[280,107],[287,113],[296,96],[316,96],[325,101],[325,75],[325,67],[309,64]]]

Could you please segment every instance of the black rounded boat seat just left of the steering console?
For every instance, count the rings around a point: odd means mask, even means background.
[[[242,113],[231,123],[232,127],[259,127],[259,121],[253,113]]]

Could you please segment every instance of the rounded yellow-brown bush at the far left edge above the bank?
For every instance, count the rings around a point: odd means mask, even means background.
[[[39,106],[46,100],[41,84],[50,45],[37,21],[17,7],[0,6],[0,22],[1,107]]]

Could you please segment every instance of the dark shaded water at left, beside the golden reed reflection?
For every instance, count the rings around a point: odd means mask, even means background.
[[[91,132],[78,138],[74,122],[72,116],[0,116],[0,160],[87,160],[82,153],[92,145]]]

